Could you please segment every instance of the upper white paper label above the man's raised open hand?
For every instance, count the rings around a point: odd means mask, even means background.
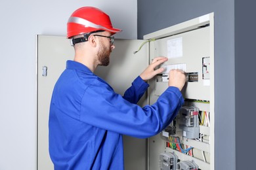
[[[181,58],[182,51],[182,37],[171,39],[167,41],[167,58]]]

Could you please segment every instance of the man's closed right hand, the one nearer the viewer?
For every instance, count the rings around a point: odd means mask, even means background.
[[[169,72],[169,86],[175,86],[181,91],[186,82],[186,76],[184,71],[180,69],[172,69]]]

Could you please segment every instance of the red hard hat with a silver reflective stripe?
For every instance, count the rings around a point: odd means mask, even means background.
[[[68,19],[68,39],[75,35],[98,30],[109,31],[112,35],[121,31],[121,29],[112,26],[110,17],[106,13],[95,7],[81,7],[75,10]]]

